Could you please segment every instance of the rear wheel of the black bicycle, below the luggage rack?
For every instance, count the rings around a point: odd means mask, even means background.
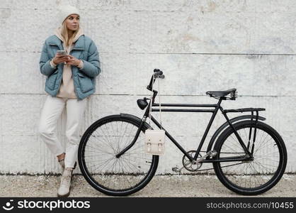
[[[287,164],[285,143],[271,126],[260,121],[257,124],[254,121],[234,124],[250,152],[255,127],[254,160],[213,163],[217,178],[222,184],[241,195],[258,195],[270,190],[283,176]],[[248,146],[250,131],[251,141]],[[214,149],[217,151],[215,159],[246,154],[230,127],[217,139]]]

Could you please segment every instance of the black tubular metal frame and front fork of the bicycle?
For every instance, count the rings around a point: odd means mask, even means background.
[[[152,98],[152,100],[150,100],[150,102],[153,103],[154,98],[156,97],[157,92],[154,91],[154,96]],[[237,157],[232,157],[232,158],[220,158],[218,160],[214,160],[214,159],[204,159],[200,162],[202,163],[213,163],[213,162],[231,162],[231,161],[244,161],[244,160],[251,160],[252,158],[252,153],[249,152],[249,149],[246,148],[244,142],[241,140],[241,137],[239,136],[239,133],[237,133],[237,130],[234,128],[234,126],[232,125],[232,122],[229,121],[229,118],[227,116],[227,113],[224,111],[224,109],[221,107],[221,102],[223,100],[223,97],[221,97],[219,99],[219,102],[217,104],[161,104],[162,107],[207,107],[207,108],[215,108],[215,109],[161,109],[161,111],[175,111],[175,112],[210,112],[212,113],[212,116],[210,118],[209,124],[207,124],[207,128],[205,129],[205,133],[203,134],[203,138],[200,141],[200,144],[198,146],[198,149],[196,150],[196,153],[194,155],[194,157],[190,156],[185,150],[184,148],[173,138],[173,136],[171,136],[171,134],[166,131],[166,129],[164,129],[163,126],[161,126],[161,124],[159,124],[159,122],[154,118],[154,116],[151,116],[151,120],[154,122],[154,124],[156,124],[157,127],[159,127],[159,129],[163,129],[165,131],[166,136],[175,144],[175,146],[178,147],[178,149],[184,154],[186,155],[186,157],[193,161],[193,160],[197,160],[198,155],[200,153],[201,148],[203,147],[203,143],[205,142],[205,138],[207,137],[207,133],[210,131],[210,127],[212,126],[212,122],[215,119],[215,116],[217,115],[217,111],[222,111],[222,114],[224,115],[225,119],[227,120],[227,123],[229,124],[229,126],[231,126],[231,128],[234,131],[235,136],[237,136],[237,139],[239,140],[239,143],[241,144],[241,147],[244,149],[246,155],[240,155]],[[148,104],[148,107],[144,113],[144,116],[142,118],[141,124],[139,126],[139,129],[137,130],[136,136],[134,138],[134,140],[132,141],[132,143],[130,143],[129,146],[127,146],[125,149],[123,149],[123,151],[121,151],[120,153],[118,153],[116,155],[117,158],[120,157],[120,155],[123,155],[123,153],[125,153],[128,149],[130,149],[134,143],[137,141],[138,136],[140,135],[140,131],[142,129],[142,126],[144,125],[144,122],[146,121],[147,117],[149,116],[149,107],[150,107],[150,103]],[[159,104],[157,103],[153,103],[152,107],[159,107]],[[160,109],[153,109],[152,111],[160,111]]]

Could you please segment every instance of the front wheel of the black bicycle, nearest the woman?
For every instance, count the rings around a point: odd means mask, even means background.
[[[130,195],[152,179],[158,155],[144,151],[143,126],[135,144],[119,158],[115,155],[132,143],[140,121],[123,114],[99,119],[86,130],[79,144],[82,175],[96,190],[106,195]]]

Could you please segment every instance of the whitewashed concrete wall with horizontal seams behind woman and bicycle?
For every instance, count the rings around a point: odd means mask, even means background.
[[[215,103],[205,96],[207,90],[236,87],[239,98],[225,102],[225,109],[266,107],[262,115],[288,148],[286,172],[296,172],[296,1],[69,2],[80,9],[81,26],[98,45],[102,62],[81,134],[108,114],[142,116],[136,100],[149,94],[149,77],[160,68],[166,75],[161,102]],[[0,173],[59,172],[55,156],[38,136],[46,97],[40,50],[58,26],[58,4],[0,0]],[[210,114],[166,113],[162,119],[184,147],[193,149]],[[218,116],[210,136],[223,121]],[[63,142],[64,124],[63,113],[57,128]],[[171,173],[181,165],[181,156],[167,143],[158,173]]]

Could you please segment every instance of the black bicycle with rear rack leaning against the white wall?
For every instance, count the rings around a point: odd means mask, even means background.
[[[152,111],[159,111],[154,103],[155,79],[163,78],[161,70],[154,70],[147,89],[152,98],[138,99],[140,109],[146,109],[140,119],[132,114],[115,114],[95,121],[85,131],[79,144],[78,160],[82,175],[96,190],[106,195],[130,195],[141,190],[152,180],[159,155],[144,151],[144,133],[149,129],[146,120]],[[258,195],[270,190],[285,172],[287,151],[280,134],[258,115],[263,108],[223,109],[222,100],[235,100],[237,89],[206,92],[219,99],[217,104],[161,104],[161,107],[205,107],[206,109],[161,109],[161,112],[205,112],[212,113],[209,124],[196,151],[186,151],[156,119],[151,120],[164,129],[169,138],[184,154],[183,168],[190,172],[200,171],[203,163],[212,163],[217,178],[229,190],[241,195]],[[149,102],[147,102],[149,101]],[[217,111],[226,121],[210,139],[204,155],[201,151]],[[250,112],[229,119],[227,113]],[[177,168],[174,170],[179,171]]]

